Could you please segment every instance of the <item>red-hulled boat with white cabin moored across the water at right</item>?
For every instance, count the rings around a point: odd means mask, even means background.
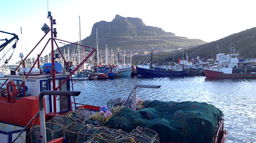
[[[233,68],[226,68],[219,63],[215,63],[214,66],[204,68],[206,78],[217,79],[256,79],[256,72],[244,72],[233,73]]]

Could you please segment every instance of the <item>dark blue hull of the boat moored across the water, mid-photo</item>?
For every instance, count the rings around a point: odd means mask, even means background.
[[[163,71],[155,69],[144,69],[136,67],[138,76],[148,76],[148,77],[178,77],[178,76],[188,76],[189,71]]]

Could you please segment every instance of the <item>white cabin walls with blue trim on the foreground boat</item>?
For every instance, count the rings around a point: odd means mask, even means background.
[[[22,74],[18,75],[6,75],[9,80],[15,82],[15,84],[22,84]],[[56,74],[56,86],[60,85],[67,77],[67,74]],[[67,80],[60,87],[60,91],[67,91],[69,85],[69,80]],[[16,87],[18,89],[19,86]],[[44,90],[53,90],[52,78],[49,74],[36,74],[30,75],[25,81],[26,96],[33,95],[37,96],[40,92]],[[22,91],[21,91],[22,93]],[[23,94],[23,93],[22,93]],[[51,95],[45,95],[45,113],[54,112],[54,99]],[[67,96],[56,96],[56,112],[67,112],[71,111],[71,100]]]

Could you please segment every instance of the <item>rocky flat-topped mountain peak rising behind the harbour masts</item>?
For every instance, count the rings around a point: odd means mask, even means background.
[[[96,29],[98,29],[98,43],[108,44],[113,49],[136,49],[151,47],[179,48],[185,45],[198,45],[205,43],[201,40],[188,39],[175,36],[172,32],[166,32],[158,27],[146,26],[139,18],[122,17],[119,14],[111,22],[96,22],[89,37],[85,40],[88,46],[95,47]]]

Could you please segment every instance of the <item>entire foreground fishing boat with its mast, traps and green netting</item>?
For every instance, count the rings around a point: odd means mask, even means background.
[[[45,45],[32,68],[22,64],[44,36],[24,59],[20,54],[22,63],[1,82],[0,126],[13,129],[0,132],[0,138],[6,139],[2,140],[4,143],[225,142],[228,132],[223,129],[223,113],[211,104],[137,99],[136,88],[160,87],[156,85],[135,85],[127,99],[111,99],[106,107],[84,104],[77,107],[75,98],[71,102],[70,97],[80,94],[73,91],[72,74],[96,49],[56,39],[51,12],[48,12],[48,18],[51,28],[46,26],[45,29],[44,26],[43,30],[45,36],[51,35],[46,42],[47,45],[51,41],[51,63],[44,64],[44,72],[40,70],[39,59]],[[71,72],[56,41],[80,45],[92,51]],[[61,64],[56,62],[54,45],[64,61],[64,69],[68,71],[63,71]],[[2,88],[4,86],[6,88]],[[4,129],[0,127],[0,130]]]

